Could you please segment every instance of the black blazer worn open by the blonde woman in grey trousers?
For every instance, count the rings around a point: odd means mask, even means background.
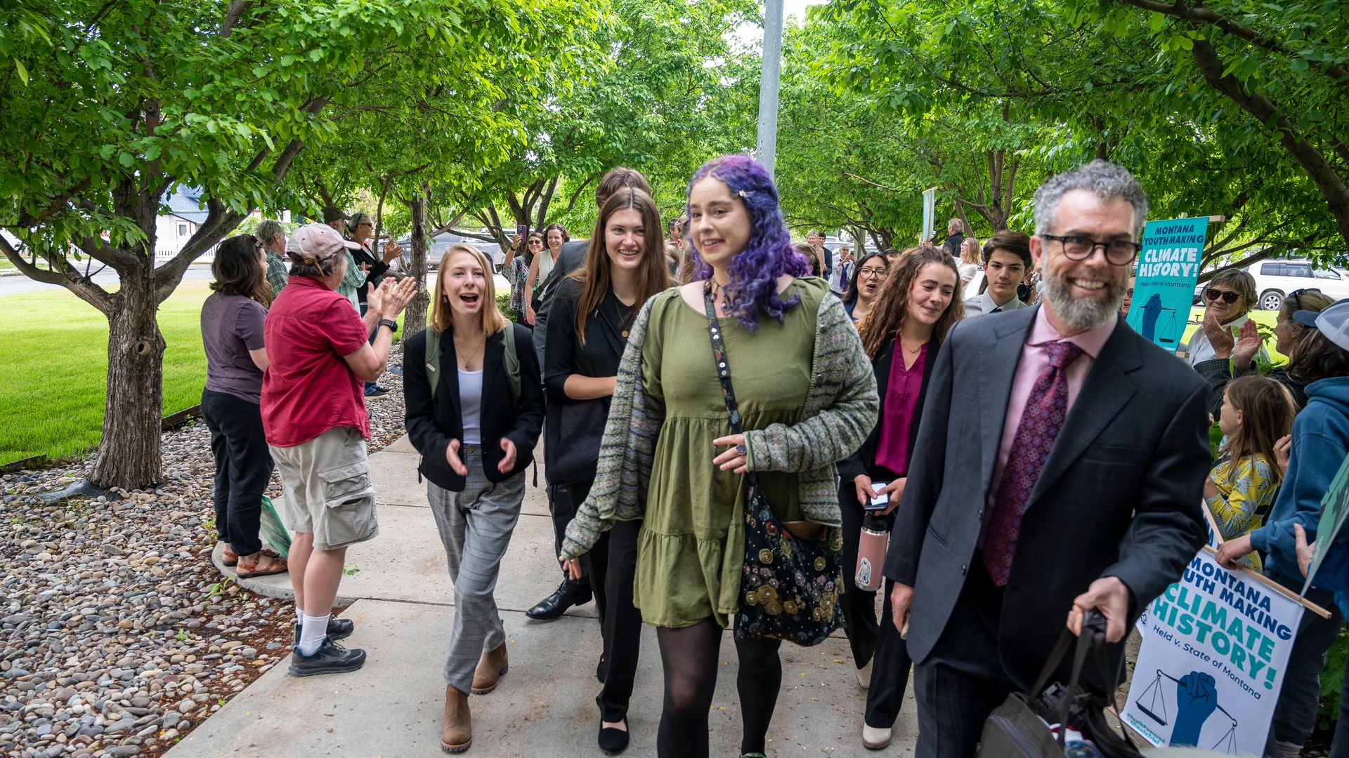
[[[500,332],[487,339],[483,351],[483,399],[479,410],[483,438],[483,473],[488,482],[505,482],[525,471],[534,460],[534,444],[544,425],[544,390],[538,380],[538,360],[529,329],[506,322],[515,330],[515,355],[519,357],[519,399],[511,406],[510,379],[506,375],[506,344]],[[441,334],[440,384],[434,406],[426,375],[426,332],[418,332],[403,341],[403,421],[413,446],[421,453],[417,471],[426,479],[452,492],[464,491],[464,477],[445,463],[445,448],[451,440],[460,440],[464,422],[459,409],[459,375],[455,340]],[[496,471],[502,460],[500,440],[515,444],[515,467],[509,472]]]

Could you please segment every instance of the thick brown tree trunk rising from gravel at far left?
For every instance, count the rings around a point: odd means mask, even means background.
[[[108,399],[103,441],[89,482],[144,488],[161,482],[165,339],[155,320],[154,263],[140,258],[121,272],[108,314]],[[115,442],[115,444],[113,444]]]

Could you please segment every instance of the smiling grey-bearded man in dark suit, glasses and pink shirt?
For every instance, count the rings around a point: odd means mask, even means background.
[[[1203,545],[1206,386],[1118,317],[1147,210],[1103,161],[1047,181],[1043,305],[962,321],[938,355],[885,562],[920,758],[974,755],[1058,619],[1099,610],[1118,672],[1125,631]]]

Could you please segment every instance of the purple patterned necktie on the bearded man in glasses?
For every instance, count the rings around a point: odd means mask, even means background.
[[[1040,479],[1044,461],[1050,459],[1054,440],[1067,415],[1067,368],[1082,355],[1082,348],[1072,343],[1047,343],[1044,349],[1050,353],[1050,367],[1040,372],[1031,387],[983,540],[983,565],[998,587],[1006,585],[1012,573],[1012,554],[1021,530],[1021,515],[1025,514],[1031,490]]]

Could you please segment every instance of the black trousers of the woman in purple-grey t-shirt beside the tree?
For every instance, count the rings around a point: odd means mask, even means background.
[[[210,452],[216,457],[216,531],[231,550],[251,556],[262,549],[258,522],[272,469],[262,411],[258,403],[202,390],[201,417],[210,430]]]

